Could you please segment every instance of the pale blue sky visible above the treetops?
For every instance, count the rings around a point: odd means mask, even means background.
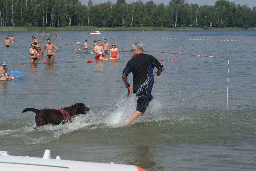
[[[88,0],[80,0],[82,4],[84,5],[88,5]],[[93,4],[102,4],[104,2],[106,2],[108,0],[93,0]],[[111,1],[112,3],[116,3],[117,0],[109,0]],[[127,4],[130,4],[130,3],[133,3],[133,2],[136,2],[137,0],[125,0]],[[150,0],[142,0],[142,2],[145,4],[146,2],[148,2]],[[169,4],[169,1],[170,0],[157,0],[157,2],[155,0],[153,0],[155,4],[160,4],[160,3],[163,3],[165,5]],[[201,5],[215,5],[215,2],[217,0],[185,0],[185,2],[187,2],[188,4],[198,4],[199,6]],[[247,7],[250,7],[250,8],[253,8],[253,7],[256,7],[256,1],[255,0],[228,0],[230,2],[235,2],[235,4],[240,4],[241,6],[242,5],[247,5]]]

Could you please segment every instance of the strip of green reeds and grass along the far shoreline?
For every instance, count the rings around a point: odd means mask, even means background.
[[[246,28],[248,30],[256,30],[256,27]],[[167,27],[93,27],[93,26],[70,26],[70,27],[0,27],[0,31],[92,31],[92,30],[101,30],[101,31],[143,31],[143,30],[245,30],[245,28],[234,28],[234,27],[224,27],[224,28],[214,28],[214,27],[176,27],[176,28],[167,28]]]

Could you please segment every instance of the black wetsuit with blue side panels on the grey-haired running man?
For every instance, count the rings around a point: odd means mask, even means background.
[[[144,113],[148,103],[153,96],[151,90],[154,84],[154,67],[158,70],[163,68],[154,56],[139,53],[127,62],[123,70],[123,75],[128,76],[133,73],[133,93],[137,96],[136,110]]]

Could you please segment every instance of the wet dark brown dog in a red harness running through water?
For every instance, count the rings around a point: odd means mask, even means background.
[[[34,109],[34,108],[26,108],[22,111],[27,112],[35,112],[35,122],[36,127],[47,125],[48,123],[59,125],[60,123],[64,124],[65,122],[68,122],[76,115],[82,113],[87,114],[87,111],[90,109],[86,107],[83,103],[76,103],[70,107],[61,108],[59,110],[57,109]]]

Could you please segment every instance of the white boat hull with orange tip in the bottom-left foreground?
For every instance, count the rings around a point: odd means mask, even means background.
[[[138,166],[127,164],[105,164],[85,161],[61,160],[59,156],[56,159],[51,158],[50,150],[45,150],[43,158],[12,156],[8,152],[0,151],[0,168],[1,171],[19,170],[72,170],[72,171],[146,171]]]

